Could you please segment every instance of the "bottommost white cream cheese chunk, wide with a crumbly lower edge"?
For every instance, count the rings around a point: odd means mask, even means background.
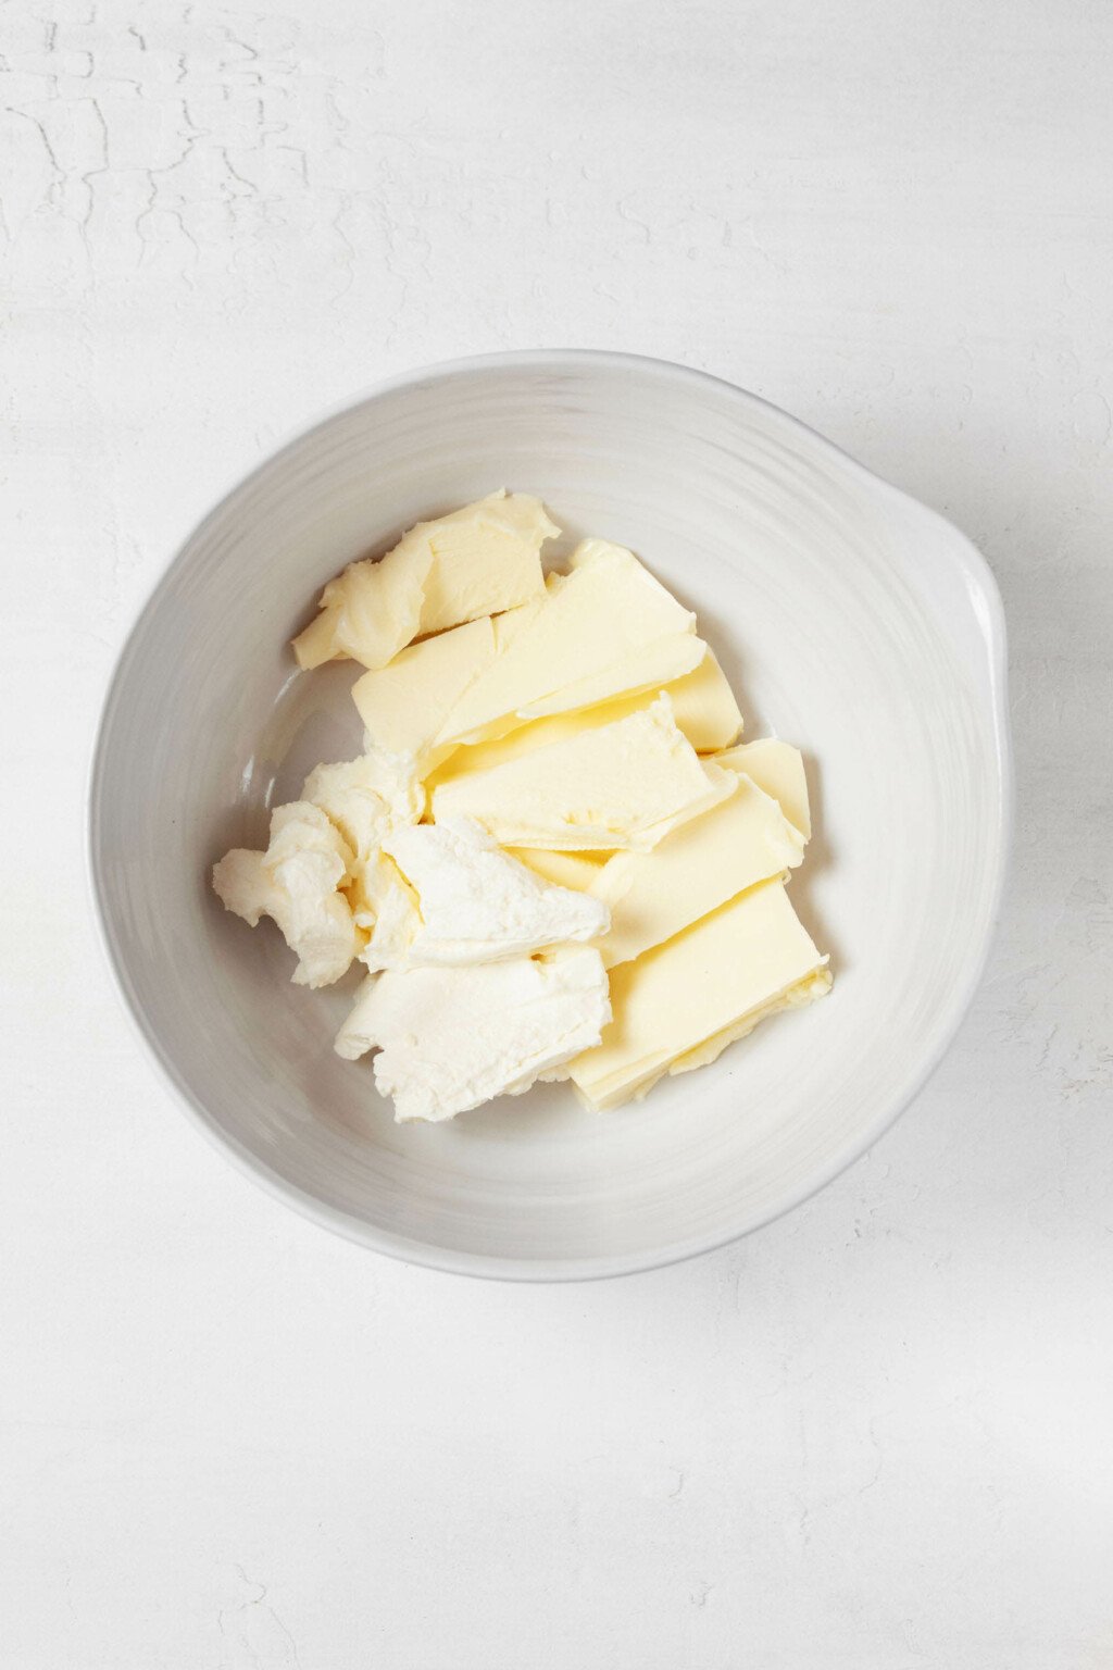
[[[335,1049],[377,1049],[375,1084],[394,1117],[452,1119],[492,1096],[521,1096],[597,1042],[611,1015],[599,952],[512,957],[474,969],[369,975]]]

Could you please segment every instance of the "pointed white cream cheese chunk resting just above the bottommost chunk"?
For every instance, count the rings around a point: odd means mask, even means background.
[[[496,962],[607,930],[606,905],[541,880],[471,818],[399,828],[384,850],[410,898],[399,888],[380,910],[364,952],[369,969]]]

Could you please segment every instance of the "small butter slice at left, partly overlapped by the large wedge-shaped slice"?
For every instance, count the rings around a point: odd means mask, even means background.
[[[352,701],[379,748],[424,757],[464,691],[496,658],[489,616],[414,643],[352,685]]]

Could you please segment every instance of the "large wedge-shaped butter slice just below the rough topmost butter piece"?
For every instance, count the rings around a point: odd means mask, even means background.
[[[631,551],[586,539],[569,566],[549,576],[544,603],[464,693],[439,741],[481,741],[531,716],[667,685],[699,665],[696,616]]]

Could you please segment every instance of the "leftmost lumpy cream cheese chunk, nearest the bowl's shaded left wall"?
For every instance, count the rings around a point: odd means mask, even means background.
[[[277,922],[297,954],[297,985],[332,985],[364,947],[340,887],[350,878],[352,848],[325,813],[309,802],[275,807],[265,852],[234,848],[214,865],[212,885],[225,910],[250,927]]]

